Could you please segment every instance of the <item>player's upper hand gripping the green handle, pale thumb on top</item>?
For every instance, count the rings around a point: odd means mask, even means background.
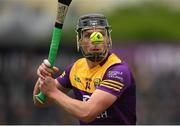
[[[37,75],[40,77],[40,79],[44,80],[45,77],[52,77],[52,74],[59,71],[59,68],[53,67],[51,68],[51,65],[47,59],[43,61],[41,65],[39,65],[37,69]]]

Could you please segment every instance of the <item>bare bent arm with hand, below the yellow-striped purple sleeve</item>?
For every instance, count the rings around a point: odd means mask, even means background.
[[[117,99],[115,95],[102,90],[96,90],[88,101],[76,100],[59,91],[55,86],[55,80],[49,77],[45,79],[41,90],[64,110],[84,122],[94,120]]]

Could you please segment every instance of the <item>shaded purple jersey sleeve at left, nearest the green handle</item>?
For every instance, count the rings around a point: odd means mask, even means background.
[[[64,87],[64,88],[72,88],[72,85],[71,85],[71,82],[70,82],[70,79],[69,79],[69,74],[70,74],[70,71],[71,71],[71,68],[72,68],[73,64],[69,65],[65,70],[64,72],[59,76],[57,77],[57,81]]]

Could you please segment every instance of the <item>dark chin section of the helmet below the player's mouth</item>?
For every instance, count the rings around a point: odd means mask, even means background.
[[[92,62],[102,61],[103,59],[106,58],[107,52],[108,52],[107,50],[105,50],[102,53],[98,53],[98,52],[97,53],[85,53],[81,47],[80,47],[80,50],[81,50],[83,56]]]

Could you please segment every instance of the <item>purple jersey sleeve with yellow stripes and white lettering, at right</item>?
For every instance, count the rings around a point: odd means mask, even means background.
[[[125,64],[115,64],[107,69],[97,89],[109,92],[117,97],[131,85],[131,71]]]

